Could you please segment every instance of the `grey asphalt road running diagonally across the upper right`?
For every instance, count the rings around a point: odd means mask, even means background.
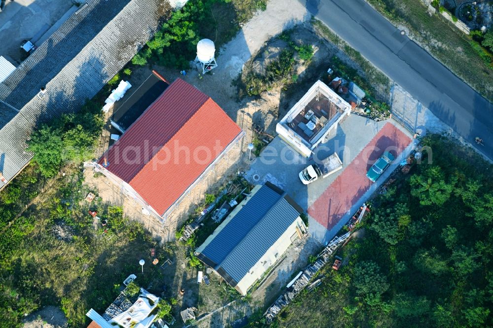
[[[364,0],[299,0],[310,13],[493,159],[493,105]],[[464,63],[464,65],[467,65]],[[474,142],[479,136],[485,145]]]

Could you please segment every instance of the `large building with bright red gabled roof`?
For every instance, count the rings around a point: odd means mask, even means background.
[[[98,164],[106,158],[107,172],[165,216],[243,135],[209,96],[177,79]]]

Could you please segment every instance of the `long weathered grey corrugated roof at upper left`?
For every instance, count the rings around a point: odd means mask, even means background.
[[[162,0],[86,2],[0,83],[0,171],[7,179],[31,160],[25,148],[33,127],[80,109],[172,10]],[[38,98],[42,86],[46,93]]]

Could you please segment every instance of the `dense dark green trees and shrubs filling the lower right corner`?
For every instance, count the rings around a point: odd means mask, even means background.
[[[492,327],[492,164],[448,137],[421,142],[423,162],[374,195],[345,264],[322,268],[274,327]]]

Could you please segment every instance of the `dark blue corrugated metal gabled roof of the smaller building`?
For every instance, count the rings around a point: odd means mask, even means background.
[[[300,213],[269,186],[262,186],[201,252],[237,283]]]

